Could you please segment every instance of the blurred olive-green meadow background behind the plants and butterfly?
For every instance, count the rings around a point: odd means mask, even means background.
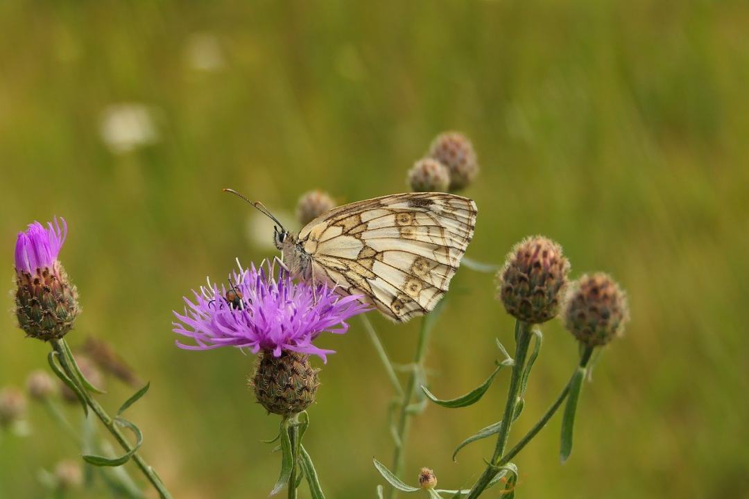
[[[482,166],[465,192],[479,206],[469,257],[501,263],[543,233],[574,276],[605,270],[630,297],[627,334],[583,391],[570,461],[556,417],[515,460],[521,497],[749,497],[748,22],[739,1],[0,2],[7,285],[17,231],[63,215],[83,308],[68,340],[97,335],[151,380],[130,409],[142,453],[175,498],[264,498],[279,456],[258,440],[278,420],[246,387],[252,358],[178,349],[170,324],[206,275],[274,254],[267,225],[221,189],[287,219],[308,189],[340,203],[402,192],[434,135],[459,129]],[[512,345],[493,296],[491,275],[456,275],[428,351],[436,394],[484,379],[495,337]],[[407,363],[419,321],[372,318]],[[558,321],[543,329],[511,441],[576,360]],[[0,385],[22,387],[49,347],[11,313],[0,331]],[[306,447],[329,498],[375,497],[391,388],[358,320],[321,343],[338,353]],[[493,441],[450,454],[500,418],[507,381],[414,420],[410,483],[422,465],[440,486],[476,479]],[[131,389],[108,387],[114,410]],[[66,414],[77,424],[77,408]],[[79,456],[37,404],[28,426],[0,440],[3,498],[46,497],[39,468]]]

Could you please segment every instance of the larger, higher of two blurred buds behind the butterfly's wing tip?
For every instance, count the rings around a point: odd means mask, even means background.
[[[428,156],[437,159],[450,172],[450,191],[465,189],[479,174],[479,162],[473,144],[458,132],[445,132],[429,147]]]

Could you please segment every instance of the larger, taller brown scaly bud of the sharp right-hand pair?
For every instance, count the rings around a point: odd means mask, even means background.
[[[559,312],[569,262],[562,247],[543,236],[524,239],[497,272],[498,297],[515,319],[540,324]]]

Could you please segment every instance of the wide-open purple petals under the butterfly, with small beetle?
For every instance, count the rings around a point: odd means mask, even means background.
[[[184,313],[175,311],[179,322],[173,331],[192,338],[195,345],[177,340],[177,346],[190,350],[207,350],[219,346],[246,347],[253,353],[282,352],[318,355],[326,361],[333,350],[324,350],[312,342],[322,332],[343,334],[351,316],[366,312],[369,305],[361,296],[340,296],[324,284],[312,287],[294,283],[288,272],[279,270],[274,277],[268,264],[232,272],[230,285],[208,283],[193,290],[194,301],[185,297]]]

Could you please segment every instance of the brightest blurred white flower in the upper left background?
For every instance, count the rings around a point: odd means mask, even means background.
[[[151,110],[137,102],[125,102],[106,108],[99,132],[107,147],[118,154],[155,144],[160,138]]]

